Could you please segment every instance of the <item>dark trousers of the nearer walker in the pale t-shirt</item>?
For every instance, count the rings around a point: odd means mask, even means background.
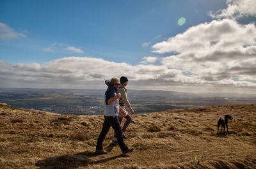
[[[102,150],[102,142],[104,141],[110,126],[114,129],[116,136],[117,136],[117,142],[120,146],[121,151],[126,151],[128,149],[128,147],[125,145],[123,137],[122,137],[122,129],[120,127],[120,123],[118,121],[118,117],[115,116],[105,116],[104,115],[104,123],[102,126],[102,130],[100,132],[98,141],[97,141],[97,145],[96,145],[96,149],[97,150]]]

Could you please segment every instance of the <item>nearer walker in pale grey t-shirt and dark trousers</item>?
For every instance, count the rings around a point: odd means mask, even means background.
[[[118,121],[118,114],[119,110],[125,114],[125,110],[120,107],[118,103],[118,99],[121,97],[121,94],[117,93],[118,88],[120,87],[118,78],[111,79],[111,85],[108,87],[107,91],[105,92],[105,103],[106,108],[104,111],[104,123],[102,126],[102,130],[100,132],[99,138],[97,140],[96,145],[96,153],[97,154],[106,154],[107,151],[103,150],[102,142],[104,141],[110,126],[115,130],[116,133],[116,140],[118,145],[120,146],[121,151],[123,154],[127,152],[132,152],[133,148],[129,149],[125,143],[124,139],[122,138],[122,129],[120,127],[120,123]]]

